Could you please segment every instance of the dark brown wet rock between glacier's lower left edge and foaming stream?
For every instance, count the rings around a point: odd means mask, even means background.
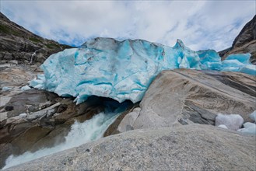
[[[14,110],[9,111],[11,114],[8,112],[8,118],[0,123],[0,144],[5,147],[1,152],[1,165],[8,155],[33,152],[65,141],[75,120],[82,122],[103,111],[100,101],[89,99],[76,106],[73,99],[64,99],[52,92],[37,89],[26,90],[12,97],[6,105],[12,105]],[[19,116],[19,113],[26,113],[26,117]]]

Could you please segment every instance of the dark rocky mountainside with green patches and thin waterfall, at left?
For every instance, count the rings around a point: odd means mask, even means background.
[[[70,48],[54,40],[39,37],[10,21],[0,12],[0,60],[43,63],[51,54]]]

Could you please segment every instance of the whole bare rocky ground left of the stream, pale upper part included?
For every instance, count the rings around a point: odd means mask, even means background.
[[[72,98],[53,92],[23,91],[21,88],[40,73],[38,66],[6,64],[0,66],[0,167],[11,154],[34,152],[65,141],[74,120],[83,122],[104,109],[97,97],[75,105]],[[4,91],[4,87],[10,89]]]

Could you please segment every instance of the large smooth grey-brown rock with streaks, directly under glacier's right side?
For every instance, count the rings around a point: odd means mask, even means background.
[[[214,125],[217,113],[240,114],[245,122],[252,121],[249,114],[256,109],[255,90],[256,77],[238,72],[164,71],[149,86],[139,104],[139,114],[135,114],[138,110],[128,113],[119,131],[194,123]]]

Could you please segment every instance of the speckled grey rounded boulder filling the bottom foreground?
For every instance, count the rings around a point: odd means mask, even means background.
[[[7,170],[255,170],[255,137],[209,125],[135,130]]]

